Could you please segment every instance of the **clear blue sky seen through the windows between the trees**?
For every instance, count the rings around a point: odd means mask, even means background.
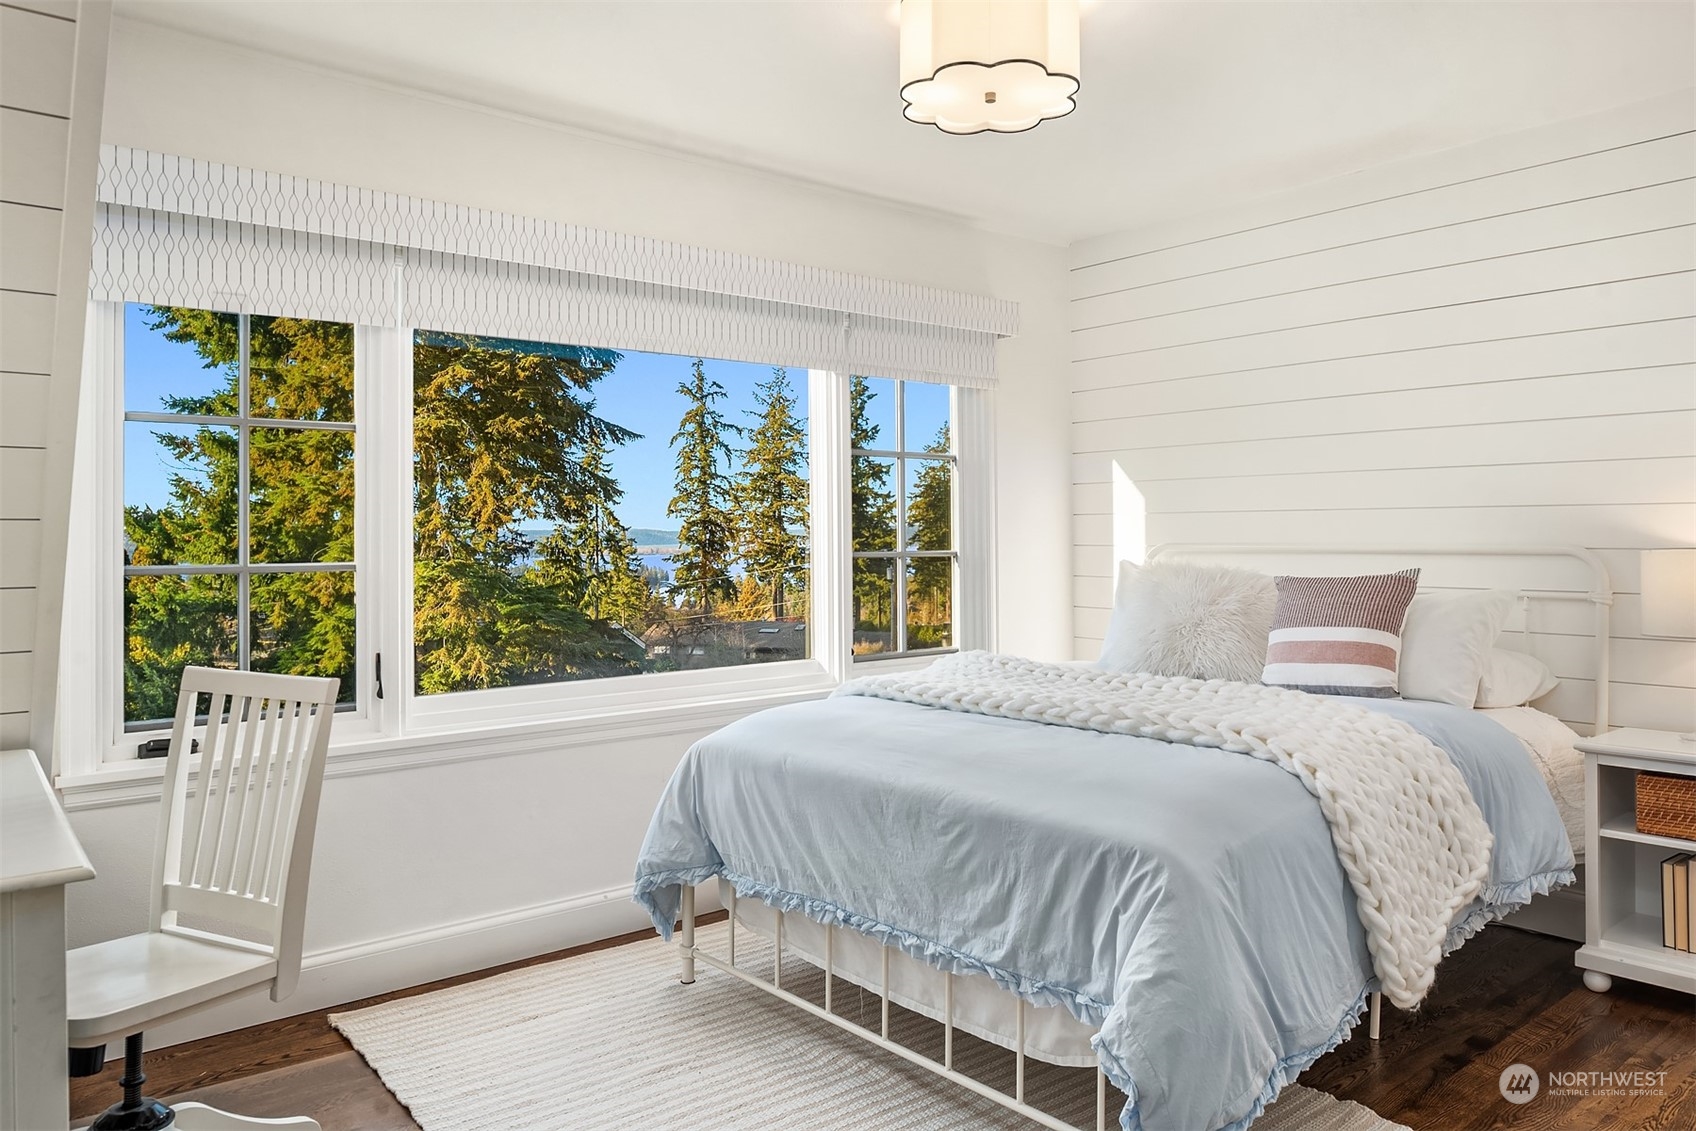
[[[656,353],[624,353],[619,366],[594,387],[595,412],[614,424],[641,432],[611,453],[612,470],[624,487],[617,507],[626,526],[675,529],[665,514],[672,499],[675,453],[672,434],[685,402],[677,385],[689,378],[692,358]],[[719,402],[731,424],[753,427],[746,415],[755,407],[755,385],[772,373],[768,365],[743,361],[707,361],[707,376],[724,387]],[[807,371],[790,370],[790,387],[797,410],[807,414]],[[205,393],[224,383],[224,376],[207,370],[192,346],[165,341],[146,326],[144,307],[131,305],[124,326],[124,407],[132,412],[165,410],[163,398],[180,393]],[[892,448],[895,439],[894,383],[873,382],[872,419],[882,427],[879,446]],[[948,419],[948,388],[941,385],[907,385],[907,446],[923,448]],[[165,453],[149,439],[161,431],[156,424],[124,427],[124,502],[161,505],[168,500],[173,470]],[[738,441],[731,441],[736,448]]]

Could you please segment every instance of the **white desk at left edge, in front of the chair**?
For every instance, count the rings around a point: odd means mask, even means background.
[[[0,751],[0,1131],[71,1124],[64,885],[93,875],[36,753]]]

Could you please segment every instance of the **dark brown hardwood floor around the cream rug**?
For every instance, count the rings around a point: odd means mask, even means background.
[[[719,912],[714,917],[722,917]],[[339,1006],[354,1009],[458,985],[500,970],[650,938],[648,933],[543,955],[497,970]],[[1696,999],[1618,980],[1591,994],[1572,967],[1576,944],[1489,928],[1443,963],[1413,1014],[1384,1012],[1384,1039],[1355,1036],[1301,1075],[1414,1131],[1689,1131],[1696,1128]],[[243,1114],[314,1116],[324,1131],[416,1131],[417,1124],[326,1021],[300,1014],[148,1055],[148,1092]],[[1545,1080],[1528,1104],[1508,1104],[1501,1070],[1530,1065]],[[1660,1095],[1565,1095],[1550,1072],[1664,1072]],[[71,1082],[86,1121],[117,1097],[117,1065]],[[587,1131],[587,1129],[585,1129]]]

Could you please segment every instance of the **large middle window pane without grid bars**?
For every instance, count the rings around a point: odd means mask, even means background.
[[[417,331],[419,695],[811,655],[784,368]]]

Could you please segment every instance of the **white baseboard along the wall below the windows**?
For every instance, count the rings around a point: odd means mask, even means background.
[[[716,887],[706,885],[699,890],[697,909],[716,911]],[[651,926],[648,914],[631,902],[631,889],[617,887],[322,950],[305,955],[300,963],[300,985],[287,1000],[273,1002],[265,992],[256,992],[148,1029],[146,1046],[166,1048],[219,1033],[234,1033],[266,1021],[331,1009],[363,997],[487,970]],[[122,1055],[122,1043],[107,1046],[109,1060]]]

